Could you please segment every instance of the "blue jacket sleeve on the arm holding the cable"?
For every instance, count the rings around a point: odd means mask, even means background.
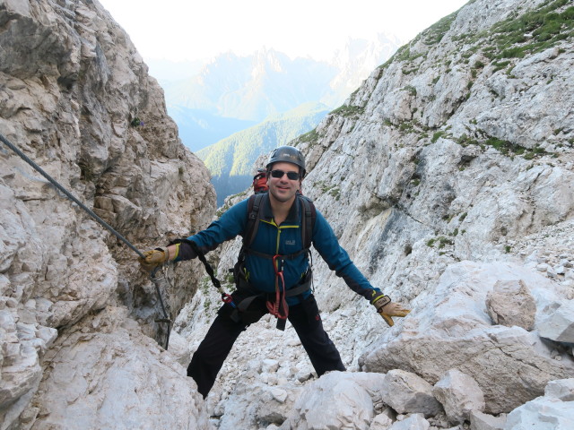
[[[193,241],[202,253],[207,254],[223,242],[241,234],[246,228],[247,211],[248,201],[244,200],[231,206],[228,211],[223,213],[220,219],[213,221],[208,228],[196,235],[187,237],[187,239],[174,241],[174,243],[180,244],[178,256],[174,261],[179,262],[196,258],[196,252],[189,245],[189,241]]]

